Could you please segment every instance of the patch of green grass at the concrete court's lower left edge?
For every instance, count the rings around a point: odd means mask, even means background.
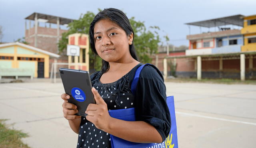
[[[20,130],[7,128],[5,120],[0,119],[0,148],[29,148],[20,139],[28,137],[28,134]]]

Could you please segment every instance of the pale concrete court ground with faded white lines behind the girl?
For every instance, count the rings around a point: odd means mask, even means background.
[[[58,81],[60,82],[60,81]],[[255,148],[256,85],[166,83],[174,95],[180,148]],[[0,84],[0,118],[27,132],[32,148],[75,148],[62,115],[62,83]]]

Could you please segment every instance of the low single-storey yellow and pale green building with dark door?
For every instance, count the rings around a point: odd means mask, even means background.
[[[49,57],[60,55],[19,42],[0,44],[0,79],[2,77],[49,77]]]

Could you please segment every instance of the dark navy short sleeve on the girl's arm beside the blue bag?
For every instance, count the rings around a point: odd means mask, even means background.
[[[135,96],[136,120],[154,126],[164,141],[170,133],[171,119],[164,80],[154,65],[146,65],[142,69]]]

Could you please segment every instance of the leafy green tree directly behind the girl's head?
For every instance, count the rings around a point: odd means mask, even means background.
[[[101,11],[99,9],[99,11]],[[90,22],[92,22],[95,14],[93,12],[86,12],[84,15],[80,15],[78,20],[74,20],[68,24],[68,32],[62,34],[62,38],[58,43],[59,52],[66,49],[68,44],[68,35],[74,33],[89,33]],[[158,43],[160,42],[157,30],[160,30],[158,26],[150,27],[150,30],[146,30],[144,22],[136,21],[134,17],[130,18],[131,26],[134,30],[134,45],[137,51],[139,60],[141,63],[150,63],[152,59],[150,55],[157,53]],[[91,50],[89,50],[90,67],[94,67],[98,71],[101,68],[102,60],[100,57],[95,56]]]

